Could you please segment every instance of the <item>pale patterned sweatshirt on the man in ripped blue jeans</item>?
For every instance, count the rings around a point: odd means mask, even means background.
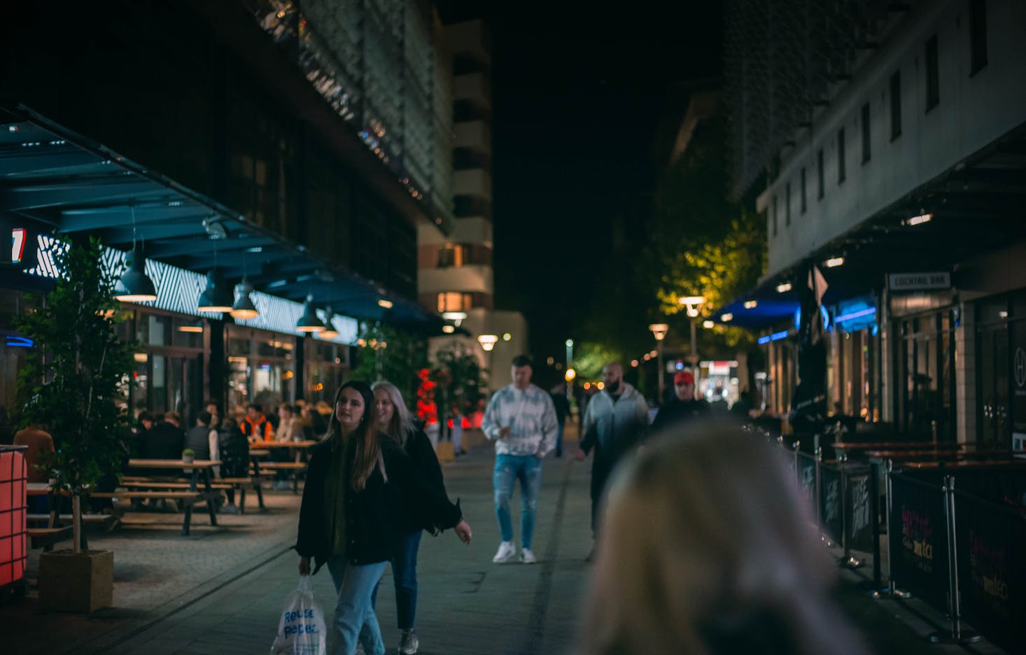
[[[499,431],[509,427],[500,438]],[[556,408],[540,387],[520,390],[512,384],[496,391],[484,410],[481,430],[496,442],[496,455],[541,455],[556,447]]]

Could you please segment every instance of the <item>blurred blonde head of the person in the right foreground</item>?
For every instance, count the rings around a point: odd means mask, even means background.
[[[863,653],[782,452],[734,423],[654,437],[610,481],[582,653]]]

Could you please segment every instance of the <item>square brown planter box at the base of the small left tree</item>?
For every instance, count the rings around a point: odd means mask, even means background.
[[[42,609],[90,613],[114,604],[114,551],[54,550],[39,555]]]

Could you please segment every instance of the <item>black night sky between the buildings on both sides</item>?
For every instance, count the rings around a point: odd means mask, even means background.
[[[660,121],[684,109],[667,89],[721,74],[719,3],[677,4],[486,16],[496,302],[526,315],[538,356],[560,353],[600,302],[594,271],[630,265],[609,261],[610,218],[655,186]],[[473,16],[461,10],[443,18]]]

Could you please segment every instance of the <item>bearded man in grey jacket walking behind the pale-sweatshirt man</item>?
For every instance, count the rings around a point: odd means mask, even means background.
[[[598,510],[605,481],[617,462],[633,451],[648,431],[648,403],[637,389],[624,382],[624,368],[610,361],[602,368],[602,390],[584,413],[584,437],[574,454],[578,461],[595,451],[591,464],[591,531],[597,537]],[[588,561],[594,556],[594,548]]]

